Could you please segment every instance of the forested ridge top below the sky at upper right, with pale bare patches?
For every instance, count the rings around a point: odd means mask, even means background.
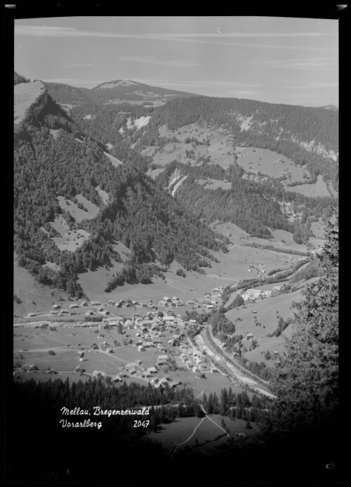
[[[305,165],[314,180],[322,174],[337,188],[336,111],[238,98],[180,98],[154,110],[140,145],[153,145],[161,126],[177,130],[194,123],[227,129],[234,145],[279,152]]]

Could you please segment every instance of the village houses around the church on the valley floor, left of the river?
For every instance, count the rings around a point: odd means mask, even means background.
[[[61,330],[65,339],[69,335],[74,339],[52,347],[50,351],[46,347],[46,360],[25,363],[14,368],[13,375],[21,377],[28,372],[40,372],[39,375],[63,373],[62,366],[55,367],[54,355],[69,351],[70,360],[67,363],[72,363],[72,356],[77,363],[70,372],[80,377],[100,377],[111,383],[128,378],[139,379],[150,382],[156,388],[166,387],[166,384],[168,387],[177,387],[183,383],[181,377],[189,373],[198,379],[204,378],[205,372],[215,373],[218,370],[189,339],[189,335],[198,333],[203,325],[197,323],[197,319],[186,318],[189,315],[184,313],[185,310],[188,313],[195,310],[197,313],[216,311],[222,292],[222,287],[216,287],[206,293],[201,301],[193,298],[185,302],[176,296],[165,296],[156,302],[125,299],[100,303],[82,300],[72,302],[65,309],[60,304],[53,304],[48,312],[28,313],[25,323],[14,325],[15,342],[17,333],[23,328],[29,328],[33,333],[34,330],[35,333],[42,330],[51,335]],[[122,316],[121,312],[129,316]],[[71,318],[68,322],[67,316]],[[37,321],[38,317],[47,319]],[[95,337],[88,343],[83,338],[87,333],[89,337]],[[80,337],[77,344],[76,335]],[[21,333],[17,338],[20,336]],[[34,345],[31,342],[29,346]],[[14,353],[31,350],[36,351],[35,358],[44,355],[39,349],[18,349],[17,346]],[[100,363],[94,358],[101,354],[105,358],[106,355],[114,358],[114,366],[109,364],[105,369],[99,367],[91,370],[93,364]],[[46,365],[47,359],[51,364],[43,369],[39,362]],[[112,369],[114,373],[111,373]],[[176,374],[176,371],[179,372]]]

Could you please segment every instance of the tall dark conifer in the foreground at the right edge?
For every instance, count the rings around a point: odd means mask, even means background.
[[[338,212],[326,225],[318,256],[324,275],[307,285],[295,303],[293,335],[274,370],[278,429],[323,424],[338,410]]]

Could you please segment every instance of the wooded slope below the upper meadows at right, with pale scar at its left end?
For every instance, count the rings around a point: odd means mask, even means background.
[[[270,228],[287,230],[298,243],[307,243],[312,235],[311,223],[319,217],[325,221],[330,207],[336,204],[331,197],[310,198],[287,192],[274,178],[260,183],[249,181],[241,177],[242,172],[234,162],[225,170],[218,164],[194,167],[174,161],[155,181],[207,223],[231,221],[251,236],[268,239],[272,238]],[[199,183],[210,178],[230,183],[230,188],[208,190]],[[289,207],[289,212],[296,216],[293,221],[282,212],[283,200],[285,208]]]

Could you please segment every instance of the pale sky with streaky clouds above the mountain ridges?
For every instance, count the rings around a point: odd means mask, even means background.
[[[338,20],[21,19],[15,71],[86,88],[132,79],[206,96],[338,106]]]

